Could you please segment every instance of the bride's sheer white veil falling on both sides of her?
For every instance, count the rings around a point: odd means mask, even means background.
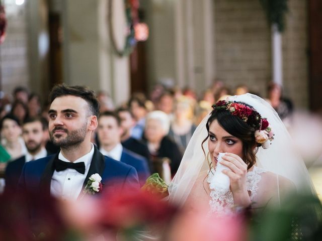
[[[262,117],[268,119],[273,129],[274,140],[271,142],[270,148],[258,148],[256,165],[266,171],[288,178],[294,183],[297,192],[314,193],[314,188],[302,157],[296,152],[292,139],[274,108],[264,99],[249,93],[230,96],[227,100],[240,101],[253,106]],[[194,132],[178,172],[169,185],[169,200],[177,205],[185,203],[199,175],[209,170],[211,160],[208,157],[208,140],[203,144],[204,150],[201,147],[203,140],[208,135],[206,129],[208,118],[209,114]],[[279,190],[276,191],[279,192]]]

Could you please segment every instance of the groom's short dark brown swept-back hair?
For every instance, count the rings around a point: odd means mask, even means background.
[[[93,115],[99,116],[100,111],[100,103],[96,97],[96,94],[93,90],[88,87],[74,85],[67,86],[65,84],[59,84],[52,88],[49,94],[49,103],[52,103],[55,98],[65,96],[65,95],[73,95],[77,97],[81,97],[86,100],[86,102],[90,106],[90,110]]]

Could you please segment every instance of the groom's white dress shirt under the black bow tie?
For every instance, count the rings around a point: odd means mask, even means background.
[[[92,144],[91,151],[81,158],[78,158],[73,163],[84,162],[85,163],[85,173],[79,173],[74,169],[67,168],[66,170],[57,172],[54,171],[51,184],[50,193],[51,195],[68,200],[76,200],[79,194],[82,192],[83,184],[85,178],[89,173],[92,158],[94,155],[94,145]],[[69,162],[61,153],[59,152],[58,159],[64,162]]]

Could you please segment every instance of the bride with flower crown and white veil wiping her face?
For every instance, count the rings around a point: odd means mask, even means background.
[[[227,192],[215,188],[219,153],[225,153],[221,164],[227,167],[222,171],[230,181]],[[293,191],[314,192],[307,169],[276,111],[252,94],[213,106],[169,187],[170,202],[208,213],[278,205]]]

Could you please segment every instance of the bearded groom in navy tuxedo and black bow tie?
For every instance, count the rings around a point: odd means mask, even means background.
[[[60,147],[57,154],[24,165],[19,188],[76,200],[93,174],[102,177],[104,189],[138,189],[135,168],[103,156],[91,143],[98,126],[99,102],[82,86],[55,86],[50,95],[49,134]]]

